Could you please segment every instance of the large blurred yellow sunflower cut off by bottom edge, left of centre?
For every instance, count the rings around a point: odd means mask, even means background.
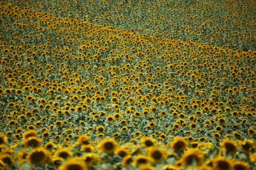
[[[73,159],[69,159],[67,162],[65,162],[63,165],[60,166],[61,170],[86,170],[88,169],[86,167],[86,164],[84,161],[82,161],[81,158],[75,157]]]

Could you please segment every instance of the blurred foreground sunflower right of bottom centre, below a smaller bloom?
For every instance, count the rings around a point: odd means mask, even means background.
[[[155,164],[162,162],[167,157],[166,148],[148,147],[146,152],[148,157],[151,158]]]

